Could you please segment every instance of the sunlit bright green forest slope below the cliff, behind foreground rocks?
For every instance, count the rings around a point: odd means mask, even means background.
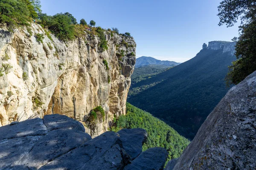
[[[180,156],[189,140],[180,136],[172,127],[150,113],[145,112],[133,105],[126,103],[126,115],[116,119],[111,130],[118,131],[123,128],[143,128],[148,133],[148,139],[143,144],[143,151],[150,147],[164,147],[168,151],[168,159],[175,159]]]

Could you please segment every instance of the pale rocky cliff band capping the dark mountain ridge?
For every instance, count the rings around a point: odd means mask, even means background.
[[[223,50],[223,53],[228,53],[230,55],[235,54],[235,45],[236,42],[228,42],[228,41],[211,41],[207,45],[203,44],[203,49],[211,49],[211,50]]]

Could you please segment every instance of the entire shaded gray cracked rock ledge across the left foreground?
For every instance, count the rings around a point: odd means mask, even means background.
[[[49,123],[56,116],[65,121]],[[80,122],[64,115],[47,115],[44,119],[29,119],[0,127],[1,136],[9,134],[0,140],[0,170],[163,169],[167,158],[164,148],[141,151],[147,136],[145,130],[108,131],[91,139],[78,128],[79,124],[81,127]],[[41,132],[37,130],[38,125]],[[18,136],[17,129],[23,135]],[[134,145],[131,136],[136,139]],[[132,158],[134,148],[137,150],[135,159]]]

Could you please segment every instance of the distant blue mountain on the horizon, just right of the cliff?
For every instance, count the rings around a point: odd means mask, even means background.
[[[144,65],[166,65],[166,66],[172,67],[179,64],[180,63],[174,62],[174,61],[162,61],[159,59],[155,59],[153,57],[142,56],[136,59],[135,68],[138,68]]]

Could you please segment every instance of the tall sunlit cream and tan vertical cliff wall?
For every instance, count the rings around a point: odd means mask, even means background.
[[[0,126],[58,113],[83,121],[98,136],[114,115],[125,114],[136,60],[132,37],[105,31],[108,50],[102,51],[95,35],[62,42],[50,34],[50,40],[34,23],[30,31],[0,34]],[[44,35],[43,43],[36,34]],[[105,117],[89,127],[88,115],[97,106]]]

